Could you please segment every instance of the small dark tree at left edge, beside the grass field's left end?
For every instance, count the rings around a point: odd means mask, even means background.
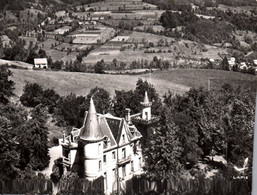
[[[0,66],[0,103],[7,104],[13,96],[14,82],[9,80],[12,72],[6,66]]]

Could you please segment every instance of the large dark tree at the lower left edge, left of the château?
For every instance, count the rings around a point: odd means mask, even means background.
[[[30,177],[29,158],[22,151],[22,135],[27,131],[21,131],[27,123],[28,113],[18,105],[0,103],[0,175],[1,178],[15,179],[16,177]]]

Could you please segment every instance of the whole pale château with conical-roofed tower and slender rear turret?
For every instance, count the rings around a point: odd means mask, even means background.
[[[151,120],[151,103],[146,93],[141,120]],[[134,175],[142,173],[142,134],[132,123],[130,109],[125,118],[97,114],[93,99],[84,124],[63,135],[63,166],[81,177],[105,179],[105,194],[111,194]]]

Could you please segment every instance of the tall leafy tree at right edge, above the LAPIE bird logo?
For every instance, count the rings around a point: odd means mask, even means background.
[[[224,85],[221,92],[227,160],[241,163],[246,157],[252,159],[255,95],[229,85]]]

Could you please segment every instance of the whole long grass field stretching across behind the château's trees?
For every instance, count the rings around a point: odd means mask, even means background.
[[[220,83],[234,83],[237,80],[250,82],[257,86],[257,76],[219,70],[175,69],[154,72],[151,74],[151,77],[150,74],[101,75],[18,69],[11,69],[11,71],[13,72],[11,79],[16,83],[15,94],[18,96],[22,94],[26,81],[36,82],[44,88],[54,89],[60,95],[75,93],[83,96],[86,96],[90,89],[96,86],[106,89],[110,92],[111,96],[114,96],[115,90],[135,89],[138,78],[147,79],[148,82],[151,82],[160,96],[163,96],[168,90],[176,94],[182,94],[191,87],[207,87],[209,78],[219,80]]]

